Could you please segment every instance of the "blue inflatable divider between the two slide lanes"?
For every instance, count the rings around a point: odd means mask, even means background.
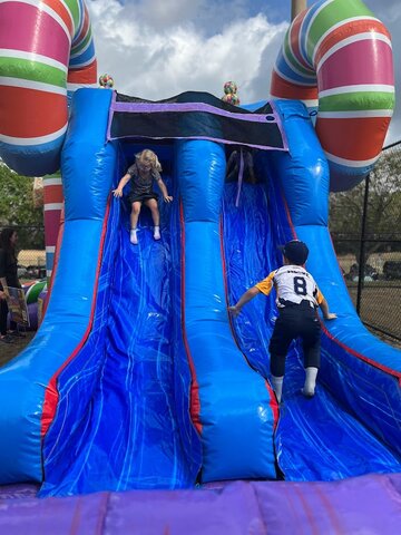
[[[233,339],[221,245],[225,153],[212,142],[177,150],[185,226],[185,330],[203,426],[202,480],[275,478],[268,389]]]

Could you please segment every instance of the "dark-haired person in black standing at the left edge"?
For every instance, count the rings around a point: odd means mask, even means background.
[[[17,323],[10,322],[10,332],[7,331],[8,305],[6,300],[6,286],[21,288],[18,280],[18,263],[16,245],[17,232],[12,228],[3,228],[0,234],[0,342],[11,343],[13,338],[22,338]]]

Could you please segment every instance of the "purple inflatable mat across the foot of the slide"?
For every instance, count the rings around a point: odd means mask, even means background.
[[[0,533],[387,535],[398,533],[401,522],[401,474],[46,499],[35,498],[36,489],[33,485],[0,488]]]

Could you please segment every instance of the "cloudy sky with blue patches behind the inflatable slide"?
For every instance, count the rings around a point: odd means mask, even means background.
[[[309,0],[309,6],[312,0]],[[235,80],[242,103],[268,98],[291,0],[87,0],[99,74],[117,90],[158,100],[186,90],[223,95]],[[365,0],[392,33],[401,87],[401,1]],[[387,143],[401,139],[401,106]]]

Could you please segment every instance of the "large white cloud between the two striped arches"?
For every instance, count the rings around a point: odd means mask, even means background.
[[[219,97],[231,79],[238,84],[242,101],[267,98],[270,74],[258,87],[254,80],[266,51],[275,58],[282,38],[274,38],[284,36],[285,23],[275,26],[257,14],[226,21],[221,31],[208,35],[188,20],[205,2],[179,0],[166,20],[167,4],[175,1],[147,0],[146,9],[117,0],[89,2],[99,74],[110,74],[119,91],[150,100],[186,90]],[[207,16],[213,16],[211,10]]]

